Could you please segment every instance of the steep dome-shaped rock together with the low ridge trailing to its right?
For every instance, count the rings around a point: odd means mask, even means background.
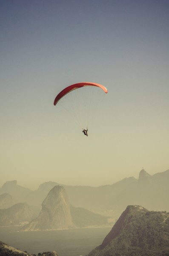
[[[58,230],[107,224],[105,216],[70,206],[65,189],[57,185],[44,199],[39,216],[22,227],[21,231]]]

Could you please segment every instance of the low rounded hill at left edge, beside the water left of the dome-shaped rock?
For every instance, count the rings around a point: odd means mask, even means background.
[[[14,204],[8,209],[0,209],[0,226],[16,226],[28,223],[35,218],[34,207],[25,203]]]

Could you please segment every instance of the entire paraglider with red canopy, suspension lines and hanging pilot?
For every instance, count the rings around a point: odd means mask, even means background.
[[[105,93],[108,93],[106,87],[104,87],[101,84],[91,83],[91,82],[81,82],[81,83],[69,85],[68,87],[61,90],[60,93],[58,93],[54,99],[54,105],[57,105],[59,102],[58,106],[60,105],[62,109],[66,110],[69,114],[71,114],[81,127],[84,127],[84,126],[87,127],[89,120],[87,121],[85,120],[84,122],[84,120],[82,119],[84,118],[89,119],[91,106],[93,105],[97,110],[95,103],[100,105],[100,101],[101,101],[99,97],[97,97],[98,91],[94,89],[96,87],[102,89]],[[84,89],[80,89],[80,88],[84,88]],[[89,90],[87,88],[89,88]],[[76,89],[80,89],[80,90],[76,90]],[[76,90],[77,93],[72,92],[74,90]],[[86,94],[86,91],[87,91],[87,94]],[[69,95],[69,93],[71,95]],[[94,96],[96,97],[96,101]],[[60,99],[62,100],[60,101]],[[63,102],[65,104],[62,106]],[[85,128],[85,129],[83,128],[82,132],[84,135],[88,136],[88,133],[87,133],[88,128]]]

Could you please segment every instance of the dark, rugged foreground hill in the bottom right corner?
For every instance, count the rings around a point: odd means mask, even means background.
[[[128,206],[88,256],[168,256],[169,212]]]

